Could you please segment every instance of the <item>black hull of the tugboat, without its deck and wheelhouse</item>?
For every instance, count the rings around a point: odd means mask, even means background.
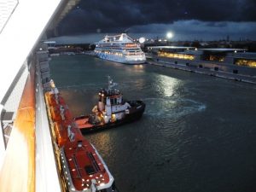
[[[92,127],[80,127],[80,131],[82,133],[89,133],[89,132],[94,132],[94,131],[102,131],[106,130],[109,128],[113,128],[119,125],[124,125],[128,124],[131,122],[134,122],[138,119],[141,119],[145,110],[145,103],[142,101],[132,101],[128,102],[131,105],[131,108],[129,108],[129,113],[125,113],[125,117],[123,119],[116,120],[114,122],[110,122],[104,125],[93,125]],[[74,120],[79,120],[79,119],[85,119],[88,118],[88,116],[80,116],[78,118],[75,118]]]

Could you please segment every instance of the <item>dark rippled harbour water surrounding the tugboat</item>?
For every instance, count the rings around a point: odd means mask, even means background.
[[[120,192],[256,191],[256,86],[90,55],[61,55],[50,77],[74,116],[91,113],[110,75],[143,118],[84,135]]]

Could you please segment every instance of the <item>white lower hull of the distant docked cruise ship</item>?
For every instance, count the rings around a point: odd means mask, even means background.
[[[108,60],[108,61],[115,61],[125,64],[143,64],[146,61],[145,55],[141,56],[119,56],[119,55],[110,55],[105,53],[97,53],[97,56],[101,59]]]

